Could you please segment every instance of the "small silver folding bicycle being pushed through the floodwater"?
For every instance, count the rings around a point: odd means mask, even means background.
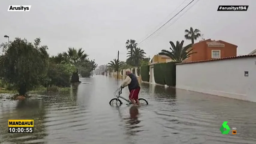
[[[119,99],[119,98],[121,98],[121,99],[125,100],[125,101],[128,103],[128,104],[126,104],[126,105],[130,105],[130,104],[131,104],[131,101],[128,100],[128,99],[126,99],[126,98],[124,98],[124,97],[122,97],[121,94],[122,94],[122,88],[120,87],[120,88],[118,88],[118,89],[114,92],[114,96],[115,96],[116,98],[112,98],[112,99],[109,101],[109,104],[110,104],[111,106],[113,106],[112,103],[114,102],[117,106],[121,106],[121,105],[123,104],[122,101]],[[148,104],[149,104],[148,101],[147,101],[145,98],[139,98],[138,100],[139,100],[139,102],[140,102],[141,105],[148,105]],[[118,102],[119,102],[119,104],[117,104]],[[135,102],[135,103],[136,103],[136,102]]]

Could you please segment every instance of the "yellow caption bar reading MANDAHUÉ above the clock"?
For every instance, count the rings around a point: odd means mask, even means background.
[[[9,119],[8,127],[34,127],[33,119]]]

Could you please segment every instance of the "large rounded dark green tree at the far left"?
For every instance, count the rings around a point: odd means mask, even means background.
[[[41,79],[47,74],[48,48],[38,46],[39,38],[36,41],[33,45],[26,39],[15,38],[0,56],[0,77],[20,95],[41,85]]]

